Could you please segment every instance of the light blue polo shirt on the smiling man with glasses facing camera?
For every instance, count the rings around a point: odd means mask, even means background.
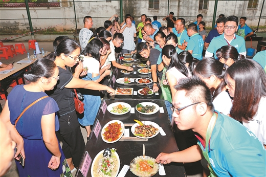
[[[214,58],[217,58],[216,56],[216,50],[220,49],[223,46],[227,46],[229,43],[225,39],[225,34],[220,35],[218,37],[215,37],[211,40],[210,45],[207,49],[207,52],[213,53]],[[231,46],[234,46],[238,53],[240,52],[246,52],[246,42],[244,38],[241,36],[235,35],[233,40],[230,42]]]

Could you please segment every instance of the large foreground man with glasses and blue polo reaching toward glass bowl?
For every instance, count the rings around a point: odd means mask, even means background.
[[[196,133],[197,145],[160,153],[156,161],[206,160],[211,176],[265,176],[266,151],[256,136],[241,123],[214,110],[211,92],[200,78],[185,78],[175,86],[173,118],[181,130]],[[203,161],[202,160],[202,161]]]

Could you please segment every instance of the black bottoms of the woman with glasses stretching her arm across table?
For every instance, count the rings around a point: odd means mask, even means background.
[[[85,149],[76,111],[59,116],[59,133],[63,138],[62,150],[66,159],[72,158],[75,167],[79,167]]]

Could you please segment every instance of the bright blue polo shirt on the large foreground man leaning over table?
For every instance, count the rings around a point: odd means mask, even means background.
[[[238,121],[218,114],[212,130],[209,160],[217,176],[266,176],[266,150],[256,136]],[[198,145],[205,142],[198,137]],[[203,145],[204,144],[204,145]]]

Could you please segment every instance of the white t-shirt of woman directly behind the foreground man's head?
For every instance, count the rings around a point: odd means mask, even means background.
[[[232,108],[232,99],[229,94],[225,91],[221,92],[216,98],[212,101],[214,109],[224,115],[230,114]]]

